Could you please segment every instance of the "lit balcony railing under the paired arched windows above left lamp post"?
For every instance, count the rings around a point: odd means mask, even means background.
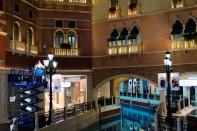
[[[79,55],[79,49],[78,48],[71,48],[71,49],[61,49],[61,48],[55,48],[54,54],[56,56],[78,56]]]

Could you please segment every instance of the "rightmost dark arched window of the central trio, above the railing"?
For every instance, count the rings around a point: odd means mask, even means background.
[[[128,37],[128,39],[130,39],[131,43],[135,42],[135,43],[139,43],[140,42],[140,33],[139,33],[139,29],[134,26],[130,32],[130,36]]]

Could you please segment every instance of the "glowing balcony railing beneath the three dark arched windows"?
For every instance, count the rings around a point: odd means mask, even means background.
[[[128,44],[110,46],[108,49],[109,55],[129,55],[141,52],[141,44]]]

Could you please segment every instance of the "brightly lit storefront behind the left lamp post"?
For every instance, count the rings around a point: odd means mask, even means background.
[[[86,75],[54,75],[52,78],[53,109],[87,101]],[[49,90],[45,90],[44,109],[49,109]]]

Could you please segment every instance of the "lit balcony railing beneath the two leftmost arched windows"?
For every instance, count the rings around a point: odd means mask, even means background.
[[[11,40],[9,49],[12,52],[25,53],[25,54],[38,54],[38,47],[35,45],[28,45],[25,42]]]

